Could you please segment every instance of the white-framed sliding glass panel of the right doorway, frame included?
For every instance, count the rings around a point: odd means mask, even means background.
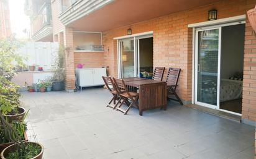
[[[196,32],[195,102],[219,108],[221,28]]]

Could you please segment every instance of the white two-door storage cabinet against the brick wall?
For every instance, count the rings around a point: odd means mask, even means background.
[[[81,88],[104,85],[102,76],[106,75],[106,68],[76,69],[76,84]]]

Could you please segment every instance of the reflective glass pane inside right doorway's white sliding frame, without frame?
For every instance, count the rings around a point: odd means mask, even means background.
[[[198,101],[217,105],[219,29],[198,32]]]

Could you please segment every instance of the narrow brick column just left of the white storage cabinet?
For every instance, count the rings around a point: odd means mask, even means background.
[[[66,48],[65,52],[65,69],[66,80],[65,89],[73,92],[75,89],[75,67],[74,67],[74,51],[73,51],[73,29],[65,28],[63,33],[63,42]]]

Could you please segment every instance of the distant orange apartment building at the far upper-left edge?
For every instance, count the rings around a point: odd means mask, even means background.
[[[9,12],[9,1],[0,0],[0,39],[10,37],[11,21]]]

